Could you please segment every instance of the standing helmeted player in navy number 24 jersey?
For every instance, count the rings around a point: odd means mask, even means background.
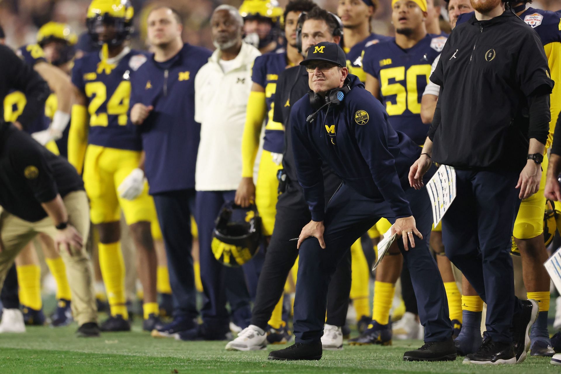
[[[133,200],[121,197],[117,191],[125,179],[136,173],[141,162],[141,138],[126,126],[131,74],[146,62],[146,54],[133,51],[126,44],[133,13],[128,1],[93,0],[86,22],[91,37],[102,45],[102,50],[86,54],[72,70],[77,98],[72,107],[68,161],[80,173],[83,166],[91,222],[99,231],[99,264],[111,307],[111,317],[102,323],[102,331],[130,330],[120,246],[121,209],[138,253],[144,291],[142,327],[151,331],[159,325],[153,237],[161,238],[161,232],[155,223],[154,201],[144,179],[144,188]]]

